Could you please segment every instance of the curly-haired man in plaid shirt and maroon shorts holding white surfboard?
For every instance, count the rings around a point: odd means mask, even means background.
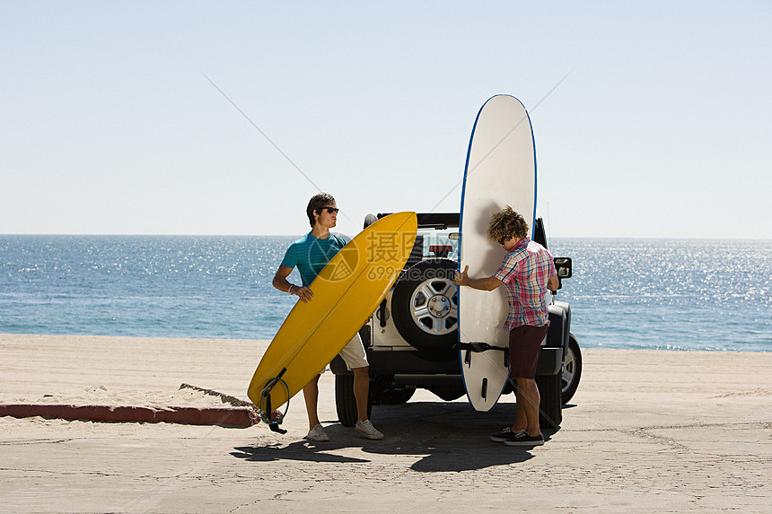
[[[546,292],[556,292],[559,285],[555,264],[547,248],[528,238],[528,223],[510,206],[491,215],[487,235],[506,250],[504,262],[487,278],[469,278],[466,266],[456,273],[456,283],[480,291],[506,286],[509,314],[504,330],[509,332],[510,376],[517,383],[517,417],[512,428],[491,439],[510,446],[544,444],[535,378],[541,342],[549,327]]]

